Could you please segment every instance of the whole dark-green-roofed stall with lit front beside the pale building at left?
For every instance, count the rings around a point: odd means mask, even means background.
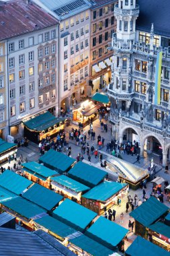
[[[50,112],[36,115],[23,122],[24,136],[30,141],[39,143],[46,137],[56,137],[58,133],[65,131],[65,118],[54,117]]]

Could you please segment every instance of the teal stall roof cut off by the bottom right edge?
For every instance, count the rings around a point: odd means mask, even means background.
[[[126,250],[126,256],[136,256],[136,253],[138,253],[138,256],[144,256],[144,255],[169,256],[170,255],[168,251],[165,251],[161,247],[147,241],[141,236],[137,236],[137,238],[130,245],[130,247],[128,247],[128,249]]]

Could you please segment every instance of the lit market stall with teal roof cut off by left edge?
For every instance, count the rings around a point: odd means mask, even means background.
[[[0,138],[0,164],[7,162],[8,157],[17,152],[17,144],[9,143]]]

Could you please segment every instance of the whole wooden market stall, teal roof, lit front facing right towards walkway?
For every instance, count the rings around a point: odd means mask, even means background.
[[[82,196],[82,205],[101,215],[116,204],[127,189],[126,183],[104,181]]]

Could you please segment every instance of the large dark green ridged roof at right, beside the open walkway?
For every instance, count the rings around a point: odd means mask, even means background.
[[[158,201],[155,197],[150,197],[142,205],[137,207],[129,215],[143,226],[153,224],[158,218],[165,214],[169,207]]]

